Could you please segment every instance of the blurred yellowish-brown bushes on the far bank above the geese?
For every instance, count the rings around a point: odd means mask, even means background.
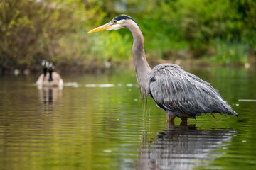
[[[1,1],[0,8],[0,67],[26,68],[43,59],[65,62],[80,57],[83,52],[73,48],[80,47],[74,38],[92,25],[92,17],[101,21],[96,13],[102,18],[102,12],[86,10],[73,0]]]

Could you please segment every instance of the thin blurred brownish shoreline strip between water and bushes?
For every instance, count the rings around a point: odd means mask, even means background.
[[[163,63],[171,63],[171,64],[178,64],[179,66],[183,67],[183,69],[193,69],[193,67],[245,67],[245,69],[255,69],[254,65],[255,62],[247,62],[245,64],[241,63],[230,63],[230,64],[217,64],[213,63],[207,58],[203,59],[187,59],[187,60],[148,60],[149,65],[151,68],[156,66],[157,64],[163,64]],[[132,60],[129,60],[127,62],[108,62],[108,63],[102,63],[97,61],[92,61],[89,64],[59,64],[57,67],[55,67],[55,72],[59,72],[61,74],[69,74],[69,73],[79,73],[79,74],[104,74],[105,72],[112,72],[114,69],[134,69]],[[15,67],[9,67],[9,68],[0,68],[0,75],[28,75],[28,74],[39,74],[41,72],[42,68],[40,64],[37,66],[33,66],[26,69],[16,69]]]

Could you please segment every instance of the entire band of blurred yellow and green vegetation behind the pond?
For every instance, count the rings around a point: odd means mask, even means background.
[[[0,0],[1,72],[42,60],[69,72],[128,64],[129,30],[87,34],[121,13],[139,24],[149,60],[255,64],[255,0]]]

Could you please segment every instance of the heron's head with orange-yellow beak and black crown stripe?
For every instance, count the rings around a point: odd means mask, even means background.
[[[127,15],[119,15],[119,16],[113,18],[109,23],[106,23],[102,26],[94,28],[94,29],[90,30],[88,33],[95,33],[100,30],[118,30],[121,28],[126,28],[127,21],[129,21],[129,20],[134,21],[131,17],[129,17]]]

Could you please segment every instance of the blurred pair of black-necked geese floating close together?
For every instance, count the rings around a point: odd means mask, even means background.
[[[60,74],[53,72],[54,66],[52,62],[49,63],[43,60],[42,67],[43,74],[41,74],[36,81],[38,86],[63,86],[63,79],[61,79]]]

